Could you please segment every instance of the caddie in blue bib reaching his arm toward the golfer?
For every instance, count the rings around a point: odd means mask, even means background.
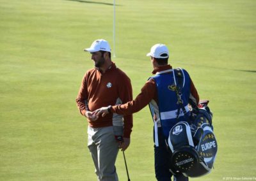
[[[150,112],[154,120],[154,156],[155,156],[155,172],[159,181],[170,181],[172,173],[170,172],[170,152],[166,146],[166,139],[172,126],[178,121],[186,121],[185,115],[189,114],[188,103],[198,105],[199,96],[196,91],[189,74],[182,69],[184,73],[185,83],[182,92],[182,100],[184,108],[187,110],[183,113],[177,104],[177,94],[172,89],[174,84],[173,69],[168,64],[169,51],[166,45],[156,44],[147,54],[154,68],[152,72],[154,76],[142,87],[140,94],[133,101],[129,101],[124,105],[108,106],[100,108],[93,112],[93,115],[102,119],[108,113],[118,113],[122,115],[130,115],[140,111],[149,104]],[[162,110],[162,112],[161,112]],[[163,111],[164,110],[164,111]],[[102,117],[100,116],[102,115]],[[179,117],[177,117],[177,115]],[[165,120],[168,125],[161,124]],[[168,120],[168,121],[166,121]],[[188,180],[182,174],[174,175],[174,180]]]

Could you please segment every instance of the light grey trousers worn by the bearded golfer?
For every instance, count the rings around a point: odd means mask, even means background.
[[[99,128],[88,126],[88,148],[98,181],[118,181],[115,162],[119,148],[113,126]]]

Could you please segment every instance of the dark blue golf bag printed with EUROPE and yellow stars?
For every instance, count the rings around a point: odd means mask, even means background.
[[[218,146],[208,102],[200,102],[199,108],[192,114],[192,124],[179,122],[170,131],[168,146],[172,151],[173,173],[200,177],[213,168]]]

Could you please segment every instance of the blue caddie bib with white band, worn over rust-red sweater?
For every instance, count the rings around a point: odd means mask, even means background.
[[[182,101],[183,106],[186,109],[186,117],[189,116],[189,108],[188,108],[188,101],[189,101],[189,95],[190,95],[190,83],[191,80],[189,78],[188,72],[184,69],[181,69],[184,77],[184,84],[182,89]],[[184,113],[182,112],[180,106],[178,105],[177,101],[177,94],[175,92],[175,89],[173,87],[175,86],[175,75],[173,73],[173,69],[169,69],[167,71],[160,71],[157,72],[155,76],[152,76],[151,78],[154,79],[156,82],[156,88],[157,88],[157,106],[159,112],[159,119],[161,122],[161,127],[163,129],[163,133],[165,138],[167,139],[169,136],[169,132],[172,129],[172,127],[177,124],[179,121],[187,121],[186,117],[184,116]],[[151,104],[150,111],[152,113],[152,110],[156,109],[153,108]],[[177,119],[177,112],[179,113],[179,118]],[[154,113],[152,113],[153,117]],[[153,117],[154,120],[154,117]]]

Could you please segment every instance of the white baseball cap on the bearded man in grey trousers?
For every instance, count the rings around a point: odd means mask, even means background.
[[[90,48],[85,48],[84,51],[86,52],[98,52],[98,51],[106,51],[106,52],[111,52],[111,48],[108,44],[108,41],[99,39],[93,41],[92,45]]]

